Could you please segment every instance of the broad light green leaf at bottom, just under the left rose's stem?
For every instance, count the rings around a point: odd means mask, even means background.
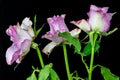
[[[51,68],[52,63],[45,65],[45,67],[42,68],[40,73],[38,74],[38,80],[47,80],[50,75]]]

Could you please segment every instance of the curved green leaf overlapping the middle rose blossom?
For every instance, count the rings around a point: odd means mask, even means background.
[[[59,33],[59,36],[64,37],[70,44],[75,47],[75,52],[80,53],[81,43],[78,38],[72,37],[69,32]]]

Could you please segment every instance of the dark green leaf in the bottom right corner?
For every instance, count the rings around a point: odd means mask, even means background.
[[[101,66],[101,74],[104,78],[104,80],[119,80],[119,77],[112,74],[110,69]]]

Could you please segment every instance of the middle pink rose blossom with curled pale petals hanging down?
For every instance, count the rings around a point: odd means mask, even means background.
[[[42,50],[43,53],[50,53],[55,46],[59,45],[65,40],[64,38],[58,36],[59,32],[69,32],[64,21],[65,16],[65,14],[62,14],[61,16],[57,15],[47,18],[47,22],[50,26],[50,31],[43,35],[42,38],[49,39],[52,42],[48,43],[48,45],[45,46],[45,48]],[[70,34],[72,34],[72,36],[77,36],[80,31],[80,29],[74,29],[70,31]]]

